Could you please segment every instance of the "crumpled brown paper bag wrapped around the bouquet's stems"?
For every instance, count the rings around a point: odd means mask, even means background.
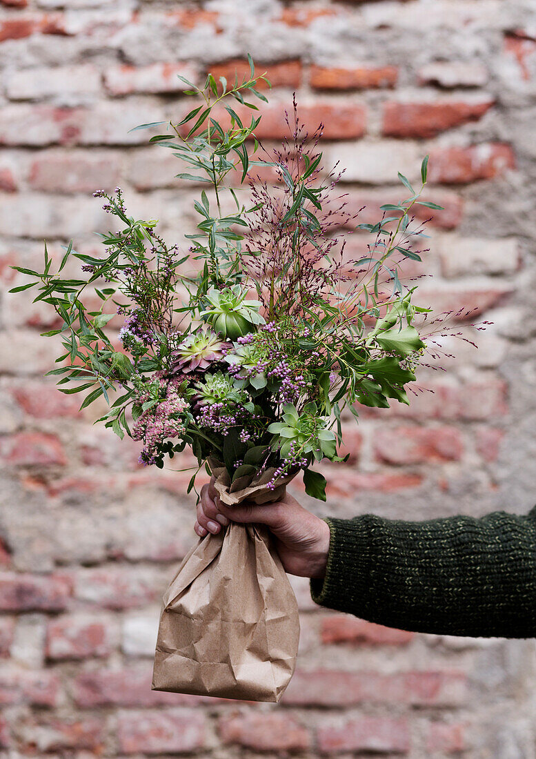
[[[266,489],[270,475],[244,488],[247,495],[229,493],[229,474],[215,469],[222,500],[266,502],[285,492],[284,483],[279,495]],[[199,540],[164,594],[152,688],[279,701],[295,669],[299,634],[298,603],[269,531],[231,523]]]

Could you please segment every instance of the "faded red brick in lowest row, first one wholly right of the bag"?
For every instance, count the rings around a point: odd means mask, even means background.
[[[407,720],[389,717],[364,716],[336,725],[318,728],[318,747],[324,754],[340,751],[393,751],[407,754],[409,751],[409,727]]]

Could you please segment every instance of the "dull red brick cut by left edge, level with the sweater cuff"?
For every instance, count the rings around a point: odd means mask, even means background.
[[[48,611],[65,609],[71,596],[71,582],[61,575],[17,575],[0,573],[2,611]]]

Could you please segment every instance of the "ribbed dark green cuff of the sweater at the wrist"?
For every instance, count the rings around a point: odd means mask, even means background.
[[[348,596],[359,605],[360,598],[367,597],[370,568],[367,517],[354,519],[326,518],[329,526],[329,553],[326,575],[323,579],[311,579],[311,597],[320,606],[329,609],[348,609]],[[352,578],[351,583],[348,579]],[[358,614],[356,608],[355,614]]]

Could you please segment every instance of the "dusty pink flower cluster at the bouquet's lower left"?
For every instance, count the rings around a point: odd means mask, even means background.
[[[134,440],[143,440],[140,464],[154,464],[163,442],[169,438],[181,437],[187,427],[183,412],[188,408],[188,402],[178,392],[181,381],[172,379],[166,383],[160,379],[159,382],[166,392],[166,398],[143,411],[132,430]]]

